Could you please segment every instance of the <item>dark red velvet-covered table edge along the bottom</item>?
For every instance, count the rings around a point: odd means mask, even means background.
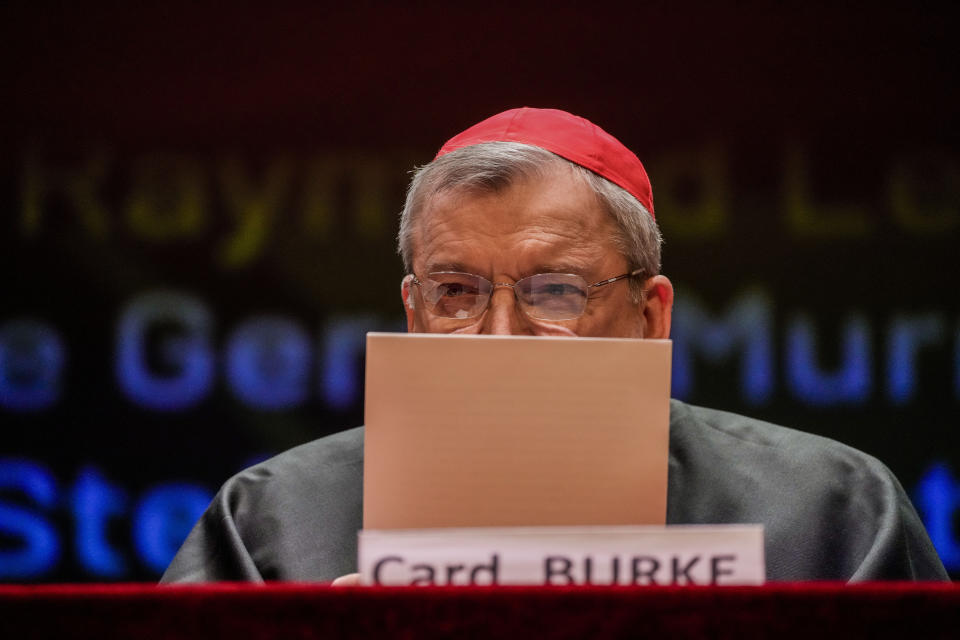
[[[956,637],[952,584],[0,586],[0,637]]]

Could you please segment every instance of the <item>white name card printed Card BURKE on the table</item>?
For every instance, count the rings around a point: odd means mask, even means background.
[[[363,530],[367,585],[758,585],[762,525]]]

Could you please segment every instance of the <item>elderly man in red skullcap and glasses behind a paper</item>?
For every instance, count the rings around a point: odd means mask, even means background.
[[[673,288],[637,157],[563,111],[514,109],[413,178],[400,223],[410,331],[667,338]],[[673,401],[668,524],[762,523],[771,580],[945,579],[877,460]],[[231,478],[163,577],[329,581],[356,571],[363,429]]]

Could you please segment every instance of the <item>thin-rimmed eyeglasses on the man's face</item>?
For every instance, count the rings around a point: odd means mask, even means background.
[[[573,320],[587,308],[590,289],[602,287],[643,273],[637,269],[600,282],[587,284],[573,273],[538,273],[509,282],[490,282],[483,276],[456,271],[428,273],[423,280],[413,276],[413,284],[431,313],[443,318],[475,318],[486,310],[495,289],[510,287],[520,309],[538,320]]]

